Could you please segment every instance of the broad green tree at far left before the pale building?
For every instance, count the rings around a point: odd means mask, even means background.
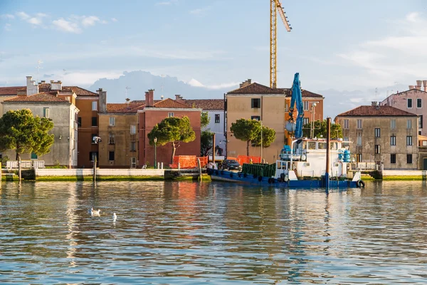
[[[22,153],[44,155],[53,145],[52,128],[51,119],[34,117],[31,110],[9,110],[0,118],[0,151],[15,150],[16,160]]]

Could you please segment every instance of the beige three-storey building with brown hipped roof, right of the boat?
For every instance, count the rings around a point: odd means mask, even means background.
[[[418,115],[387,105],[362,105],[337,115],[344,140],[357,162],[386,170],[418,169]]]

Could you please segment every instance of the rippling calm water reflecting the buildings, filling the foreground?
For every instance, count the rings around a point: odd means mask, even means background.
[[[8,182],[0,193],[1,284],[427,283],[425,182],[330,195]]]

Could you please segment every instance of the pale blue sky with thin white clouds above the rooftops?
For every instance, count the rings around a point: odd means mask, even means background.
[[[364,90],[427,79],[422,0],[282,1],[278,86]],[[268,0],[0,1],[0,86],[90,86],[123,71],[194,86],[269,84]],[[64,71],[65,70],[65,71]],[[221,96],[221,95],[220,95]]]

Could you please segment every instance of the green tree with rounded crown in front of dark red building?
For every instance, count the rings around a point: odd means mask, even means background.
[[[176,147],[179,147],[179,143],[196,140],[196,133],[191,128],[189,117],[169,117],[155,125],[147,137],[150,145],[154,145],[154,138],[157,138],[159,145],[166,145],[170,142],[172,145],[171,163],[173,163]]]

